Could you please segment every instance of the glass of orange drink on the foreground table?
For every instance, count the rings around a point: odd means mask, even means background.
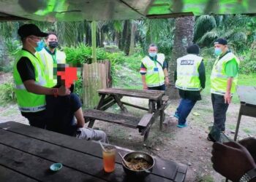
[[[116,147],[105,146],[105,150],[102,151],[103,167],[105,172],[111,173],[115,170],[116,162]]]

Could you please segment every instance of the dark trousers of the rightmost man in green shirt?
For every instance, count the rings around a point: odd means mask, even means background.
[[[229,105],[225,103],[224,95],[211,94],[211,103],[214,108],[214,127],[225,131],[226,112]]]

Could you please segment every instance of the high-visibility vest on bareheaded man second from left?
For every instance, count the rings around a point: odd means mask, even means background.
[[[66,63],[66,55],[59,50],[55,51],[54,55],[51,55],[47,50],[42,49],[40,52],[36,52],[37,58],[42,62],[45,71],[45,77],[47,87],[53,87],[57,84],[56,70],[57,64]]]

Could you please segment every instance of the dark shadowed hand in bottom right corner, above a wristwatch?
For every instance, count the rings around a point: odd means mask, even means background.
[[[214,143],[211,154],[214,170],[231,181],[239,181],[244,173],[256,167],[249,151],[233,141]]]

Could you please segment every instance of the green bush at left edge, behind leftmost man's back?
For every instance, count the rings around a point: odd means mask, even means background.
[[[14,86],[15,85],[12,82],[0,84],[0,104],[1,105],[4,105],[6,103],[11,103],[16,100]]]

